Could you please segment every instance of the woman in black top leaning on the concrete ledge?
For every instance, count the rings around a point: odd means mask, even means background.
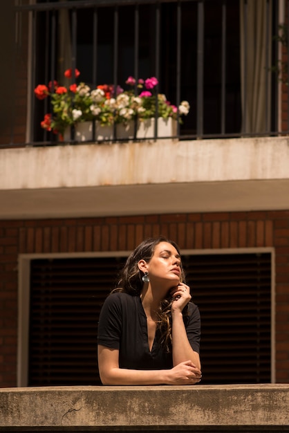
[[[190,300],[176,243],[163,237],[140,243],[100,313],[103,385],[198,383],[200,315]]]

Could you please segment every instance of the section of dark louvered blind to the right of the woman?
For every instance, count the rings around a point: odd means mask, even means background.
[[[201,312],[202,382],[270,382],[270,253],[190,256],[184,261]]]

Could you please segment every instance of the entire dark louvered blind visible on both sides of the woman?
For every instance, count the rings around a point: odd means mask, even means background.
[[[31,261],[28,385],[98,385],[97,321],[125,258]],[[202,383],[270,382],[270,254],[183,257]]]

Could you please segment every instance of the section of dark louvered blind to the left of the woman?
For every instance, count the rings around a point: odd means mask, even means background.
[[[37,259],[30,268],[29,385],[97,385],[97,322],[121,259]]]

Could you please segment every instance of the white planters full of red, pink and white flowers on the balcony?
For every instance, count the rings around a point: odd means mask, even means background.
[[[80,71],[75,69],[75,79],[79,75]],[[72,69],[67,69],[64,76],[71,78]],[[176,136],[177,120],[182,123],[182,116],[187,116],[189,102],[183,100],[176,107],[167,101],[165,94],[158,92],[156,77],[138,81],[129,77],[126,84],[129,86],[127,91],[112,84],[98,85],[95,89],[84,82],[73,83],[67,88],[57,81],[39,84],[35,88],[36,97],[39,100],[49,98],[52,107],[52,113],[44,115],[41,127],[53,131],[66,142],[71,140],[71,125],[75,128],[76,142],[132,140],[135,136],[140,140],[153,140],[157,116],[156,138]],[[141,90],[144,87],[146,90]],[[93,122],[96,122],[94,133]]]

